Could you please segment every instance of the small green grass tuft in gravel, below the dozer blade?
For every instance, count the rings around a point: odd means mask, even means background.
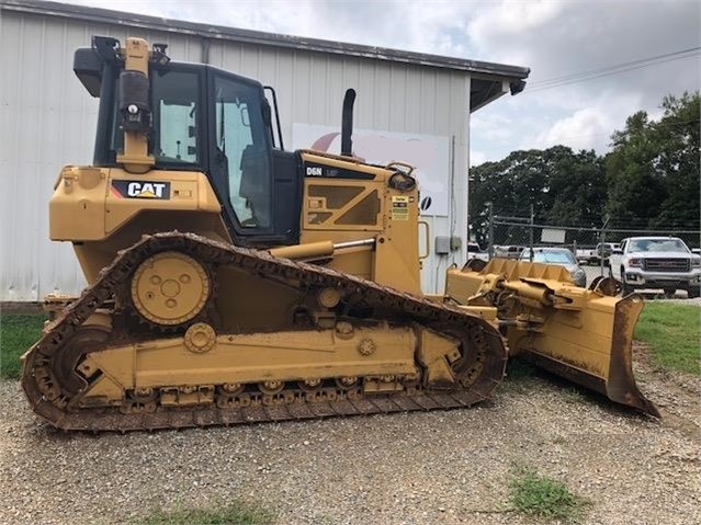
[[[532,468],[516,467],[509,481],[509,499],[517,512],[545,520],[575,521],[589,504],[561,481]]]

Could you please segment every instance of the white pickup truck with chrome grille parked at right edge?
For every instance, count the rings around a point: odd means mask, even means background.
[[[630,237],[621,242],[623,294],[636,289],[662,289],[672,296],[678,289],[689,297],[701,295],[701,256],[677,237]]]

